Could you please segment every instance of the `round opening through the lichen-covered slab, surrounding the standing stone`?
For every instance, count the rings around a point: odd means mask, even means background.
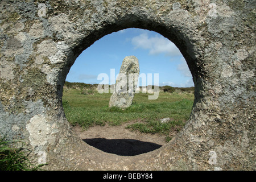
[[[139,93],[129,108],[110,108],[115,78],[130,55],[139,60]],[[106,77],[99,77],[102,73]],[[155,94],[155,82],[158,97],[148,100]],[[108,84],[108,93],[98,93],[98,84]],[[84,142],[104,152],[133,156],[160,148],[183,128],[193,106],[193,86],[174,43],[153,31],[128,28],[104,36],[77,57],[63,88],[63,107]]]

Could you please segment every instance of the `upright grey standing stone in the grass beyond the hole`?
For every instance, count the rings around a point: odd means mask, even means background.
[[[133,102],[139,77],[139,61],[135,56],[123,59],[119,75],[115,81],[115,90],[110,97],[109,107],[126,108]]]

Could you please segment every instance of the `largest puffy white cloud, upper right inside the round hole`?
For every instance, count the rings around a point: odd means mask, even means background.
[[[163,36],[149,37],[147,33],[143,33],[131,39],[131,43],[135,48],[149,49],[149,53],[152,55],[159,53],[166,53],[168,56],[181,55],[175,44]]]

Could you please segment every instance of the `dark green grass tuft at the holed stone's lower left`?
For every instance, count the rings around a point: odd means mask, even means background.
[[[12,145],[15,145],[15,142],[0,138],[0,171],[37,171],[43,166],[35,166],[28,160],[29,150]]]

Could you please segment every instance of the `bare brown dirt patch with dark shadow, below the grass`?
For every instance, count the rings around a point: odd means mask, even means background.
[[[125,128],[128,124],[130,123],[121,126],[94,126],[85,131],[76,126],[73,131],[90,146],[122,156],[143,154],[166,144],[163,135],[131,131]]]

